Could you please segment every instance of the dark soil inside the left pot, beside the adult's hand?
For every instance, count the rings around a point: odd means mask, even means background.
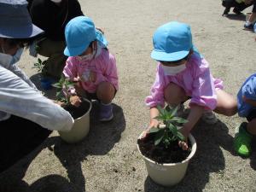
[[[65,110],[67,110],[73,119],[78,119],[79,117],[83,116],[84,113],[86,113],[89,108],[90,108],[90,103],[89,102],[81,102],[79,107],[75,107],[73,105],[67,105],[65,107]]]

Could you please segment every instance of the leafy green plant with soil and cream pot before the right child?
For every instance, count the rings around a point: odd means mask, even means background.
[[[143,155],[149,177],[155,183],[172,186],[183,179],[189,160],[195,154],[196,143],[189,134],[189,149],[180,148],[178,143],[184,141],[184,137],[178,129],[187,120],[177,117],[177,108],[157,108],[160,114],[155,119],[160,121],[160,125],[150,129],[145,137],[142,133],[137,140],[137,148]]]

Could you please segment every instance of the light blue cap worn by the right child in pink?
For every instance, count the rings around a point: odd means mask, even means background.
[[[190,26],[177,21],[166,23],[154,32],[153,44],[151,57],[154,60],[181,60],[193,48]]]

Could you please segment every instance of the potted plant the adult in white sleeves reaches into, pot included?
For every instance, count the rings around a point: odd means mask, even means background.
[[[81,103],[78,107],[70,101],[72,97],[71,88],[74,83],[61,76],[61,79],[53,84],[57,88],[56,97],[61,102],[61,107],[67,110],[74,119],[74,125],[71,131],[59,131],[61,138],[67,143],[78,143],[87,136],[90,131],[90,109],[91,102],[87,99],[80,98]]]

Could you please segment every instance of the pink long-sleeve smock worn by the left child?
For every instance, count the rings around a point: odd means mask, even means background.
[[[119,89],[116,61],[108,49],[102,48],[101,54],[91,61],[79,60],[76,56],[68,57],[63,73],[68,79],[81,79],[82,87],[89,93],[95,93],[101,82],[109,82],[115,90]],[[90,80],[91,73],[96,74],[95,81]]]

